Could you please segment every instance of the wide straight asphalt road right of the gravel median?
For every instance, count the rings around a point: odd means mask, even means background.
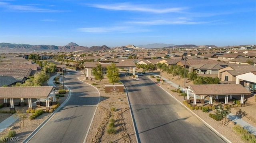
[[[124,79],[139,143],[224,143],[146,76]]]

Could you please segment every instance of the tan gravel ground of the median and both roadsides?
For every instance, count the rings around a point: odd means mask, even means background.
[[[170,74],[166,74],[164,72],[161,73],[163,77],[172,79],[172,82],[178,85],[184,85],[183,80],[176,80],[176,77],[172,77]],[[84,77],[81,77],[83,79]],[[184,78],[183,78],[184,79]],[[152,78],[152,80],[156,81],[156,78]],[[88,133],[86,142],[88,143],[98,143],[98,142],[122,142],[122,143],[135,143],[136,136],[134,132],[134,127],[132,123],[132,118],[130,114],[130,109],[128,106],[128,101],[125,93],[105,93],[104,85],[109,84],[107,79],[104,78],[102,84],[99,85],[99,81],[97,80],[86,80],[89,84],[96,83],[95,87],[100,91],[101,94],[101,102],[98,105],[97,111],[94,116],[94,120],[92,121],[92,125],[90,127],[90,131]],[[191,84],[187,83],[186,85]],[[175,89],[169,84],[159,84],[162,88],[168,91],[174,98],[178,99],[182,102],[183,97],[178,96],[177,93],[171,92],[170,90]],[[62,102],[65,100],[61,98]],[[236,114],[239,110],[240,113],[243,113],[241,116],[244,121],[250,123],[251,125],[256,126],[256,104],[255,103],[246,103],[247,106],[232,108],[232,113]],[[111,108],[116,108],[115,112],[111,112]],[[243,141],[240,137],[232,130],[234,125],[228,124],[224,126],[221,121],[215,121],[212,118],[209,118],[210,113],[214,113],[214,111],[210,111],[209,113],[204,113],[202,110],[192,110],[196,115],[206,121],[209,125],[211,125],[214,129],[224,135],[227,139],[232,141],[233,143],[242,143]],[[29,120],[28,118],[24,121],[24,127],[20,127],[19,121],[16,121],[11,126],[14,126],[16,131],[16,136],[19,137],[18,142],[22,142],[38,125],[40,125],[50,114],[44,113],[37,119]],[[0,121],[3,121],[5,118],[8,118],[10,114],[0,114]],[[27,114],[29,116],[29,114]],[[109,122],[110,117],[113,116],[115,120],[115,128],[116,134],[110,135],[106,132],[107,124]],[[2,133],[0,133],[0,137],[7,133],[9,130],[6,129]]]

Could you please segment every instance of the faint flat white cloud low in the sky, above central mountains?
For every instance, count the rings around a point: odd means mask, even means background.
[[[110,33],[110,32],[120,32],[120,33],[136,33],[136,32],[146,32],[148,29],[142,29],[131,26],[113,26],[113,27],[85,27],[78,28],[80,32],[85,33]]]

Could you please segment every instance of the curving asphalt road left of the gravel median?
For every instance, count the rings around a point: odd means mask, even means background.
[[[82,143],[88,132],[100,96],[98,91],[78,80],[81,72],[65,75],[72,94],[68,102],[30,139],[30,143]]]

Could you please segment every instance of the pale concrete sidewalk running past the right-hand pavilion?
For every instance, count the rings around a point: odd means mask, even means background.
[[[151,73],[152,74],[152,73]],[[152,74],[155,76],[159,76],[159,74]],[[161,78],[164,80],[164,82],[167,82],[168,84],[170,84],[171,86],[178,88],[179,86],[173,82],[171,82],[170,80],[164,78],[161,76]],[[182,88],[182,87],[180,87]],[[227,118],[230,119],[231,121],[234,121],[236,124],[240,125],[241,127],[243,127],[244,129],[248,130],[250,133],[256,135],[256,127],[250,125],[249,123],[247,123],[246,121],[242,120],[241,118],[239,118],[238,116],[230,113],[227,115]]]

